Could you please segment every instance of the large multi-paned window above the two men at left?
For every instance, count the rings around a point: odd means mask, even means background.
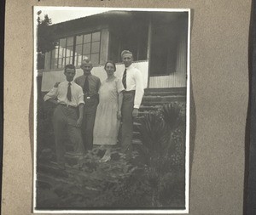
[[[61,69],[65,65],[81,65],[87,56],[93,65],[100,63],[101,31],[61,38],[51,51],[50,69]]]

